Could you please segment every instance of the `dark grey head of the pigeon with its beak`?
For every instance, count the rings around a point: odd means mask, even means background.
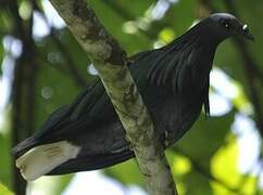
[[[218,37],[227,38],[233,36],[245,37],[254,40],[248,25],[240,23],[234,15],[227,13],[215,13],[208,17],[210,30]]]

